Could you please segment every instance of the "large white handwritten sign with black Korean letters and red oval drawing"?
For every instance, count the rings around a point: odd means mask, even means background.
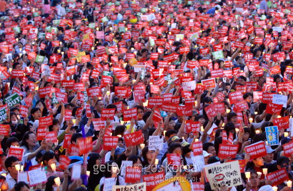
[[[212,190],[220,189],[221,185],[228,187],[242,185],[238,161],[206,166],[204,171]]]

